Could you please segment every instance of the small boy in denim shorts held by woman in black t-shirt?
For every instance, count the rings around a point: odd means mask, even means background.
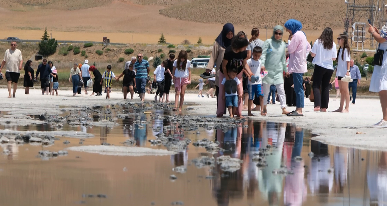
[[[227,68],[227,74],[228,74],[228,77],[230,78],[230,80],[228,80],[229,81],[228,84],[230,85],[227,85],[227,86],[235,87],[233,83],[230,83],[231,81],[235,80],[236,89],[225,88],[225,84],[227,83],[226,77],[223,78],[223,81],[222,81],[223,91],[231,90],[230,94],[228,94],[227,92],[224,92],[224,94],[221,94],[222,98],[226,100],[226,107],[228,108],[228,113],[230,114],[230,118],[234,117],[236,109],[238,109],[238,98],[240,99],[242,98],[242,94],[240,94],[239,92],[241,82],[238,79],[238,77],[236,77],[237,73],[238,73],[238,69],[236,68],[236,66],[230,66],[229,68]],[[233,90],[234,91],[236,90],[237,92],[233,92]]]

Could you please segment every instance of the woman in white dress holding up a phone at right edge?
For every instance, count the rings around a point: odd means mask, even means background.
[[[382,106],[383,119],[372,125],[373,128],[387,128],[387,26],[382,27],[382,31],[369,24],[368,32],[379,43],[379,48],[384,51],[382,66],[375,65],[373,68],[370,92],[378,92],[380,105]]]

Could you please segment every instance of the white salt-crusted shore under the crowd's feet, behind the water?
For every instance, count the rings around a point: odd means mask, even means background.
[[[83,91],[82,91],[83,92]],[[89,95],[72,96],[72,91],[59,90],[60,96],[41,95],[41,91],[33,89],[30,95],[24,95],[24,89],[17,90],[16,98],[7,98],[6,89],[0,89],[0,104],[3,111],[9,111],[10,114],[61,114],[59,106],[72,107],[90,107],[98,105],[110,105],[119,102],[125,102],[121,92],[111,93],[111,99],[106,100],[102,97],[91,97]],[[103,94],[104,95],[104,94]],[[170,100],[174,100],[175,95],[170,95]],[[135,95],[135,101],[139,101]],[[146,100],[154,100],[154,95],[146,94]],[[126,100],[129,101],[129,100]],[[215,98],[198,98],[197,94],[186,94],[185,102],[197,104],[190,106],[194,108],[194,113],[205,116],[215,116],[216,99]],[[332,98],[329,102],[328,111],[334,111],[339,107],[340,101],[334,101]],[[289,111],[295,107],[288,108]],[[255,117],[258,120],[267,120],[274,122],[295,123],[297,126],[305,129],[311,129],[313,134],[317,134],[313,140],[334,146],[347,146],[368,150],[387,150],[385,142],[386,129],[374,129],[369,126],[377,123],[382,118],[382,111],[378,99],[356,99],[356,104],[349,106],[349,113],[321,113],[313,112],[313,102],[305,99],[304,117],[287,117],[281,115],[279,102],[276,105],[268,106],[268,116],[261,117],[258,112]],[[184,111],[183,111],[184,112]],[[245,118],[247,111],[243,112]],[[360,133],[360,134],[356,134]]]

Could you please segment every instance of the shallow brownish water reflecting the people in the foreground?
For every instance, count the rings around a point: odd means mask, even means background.
[[[152,146],[147,140],[155,139],[164,127],[171,125],[177,129],[166,131],[167,134],[184,134],[180,138],[192,141],[217,140],[226,151],[212,155],[191,143],[187,150],[168,156],[122,157],[69,151],[67,156],[43,161],[36,157],[42,146],[3,144],[10,153],[0,156],[0,205],[142,206],[152,203],[171,205],[175,201],[192,206],[387,205],[386,152],[329,146],[310,140],[310,131],[293,124],[250,119],[241,127],[225,129],[227,131],[203,128],[190,131],[175,123],[151,118],[154,114],[170,115],[169,111],[151,112],[118,119],[119,126],[114,128],[66,124],[63,130],[95,135],[86,139],[83,145],[122,145],[120,142],[134,138],[136,146],[165,149],[164,146]],[[136,116],[151,124],[135,124]],[[94,121],[101,118],[97,114],[90,117]],[[101,119],[113,117],[115,112],[103,115]],[[56,130],[49,124],[1,125],[0,129]],[[65,140],[70,143],[63,144]],[[252,161],[253,154],[267,145],[272,146],[266,157],[268,165],[258,168]],[[54,145],[44,149],[58,151],[70,146],[80,146],[79,139],[60,137]],[[308,156],[311,151],[313,158]],[[230,155],[243,163],[236,172],[223,172],[219,166],[198,169],[191,160],[203,155]],[[293,160],[296,156],[303,160]],[[187,167],[185,174],[172,171],[182,165]],[[273,174],[272,171],[281,165],[294,174]],[[175,181],[169,179],[172,174],[177,177]],[[94,197],[87,197],[88,194]],[[98,194],[106,198],[96,197]]]

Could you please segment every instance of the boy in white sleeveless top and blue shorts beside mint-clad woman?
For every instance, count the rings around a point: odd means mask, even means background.
[[[254,116],[251,113],[251,107],[253,105],[254,97],[259,97],[261,115],[265,116],[264,113],[264,93],[262,92],[262,77],[261,77],[261,61],[259,58],[262,55],[262,48],[259,46],[254,47],[252,58],[247,60],[248,66],[252,72],[251,78],[248,78],[248,116]],[[249,76],[249,75],[247,75]]]

